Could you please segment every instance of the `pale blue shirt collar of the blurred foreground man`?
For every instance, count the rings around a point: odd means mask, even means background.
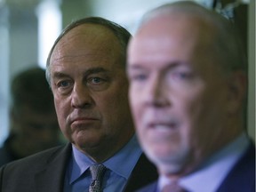
[[[188,191],[217,191],[221,182],[238,159],[243,156],[249,145],[250,141],[246,134],[243,133],[225,148],[220,149],[220,151],[211,156],[196,172],[181,178],[179,180],[180,186]],[[202,180],[204,180],[204,185],[202,185]],[[161,175],[158,180],[160,191],[168,183],[172,183],[172,180]]]

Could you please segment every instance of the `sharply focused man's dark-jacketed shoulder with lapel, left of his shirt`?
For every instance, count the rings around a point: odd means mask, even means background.
[[[66,147],[51,148],[10,164],[4,164],[0,168],[1,191],[34,192],[37,191],[36,188],[42,188],[44,185],[49,188],[52,180],[59,181],[55,182],[52,188],[60,188],[69,156],[71,156],[71,147],[67,144]]]

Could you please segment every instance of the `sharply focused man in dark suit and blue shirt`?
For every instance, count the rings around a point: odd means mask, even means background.
[[[3,166],[1,192],[82,192],[95,183],[104,192],[133,191],[156,180],[156,168],[134,135],[128,104],[129,38],[102,18],[77,20],[63,30],[49,54],[46,78],[70,143]],[[91,183],[92,165],[104,174]]]

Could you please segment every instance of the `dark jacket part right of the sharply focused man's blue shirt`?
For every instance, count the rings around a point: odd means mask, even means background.
[[[148,158],[142,154],[138,163],[135,165],[130,179],[127,182],[124,192],[131,192],[142,188],[149,183],[157,180],[158,174],[156,166],[148,161]]]

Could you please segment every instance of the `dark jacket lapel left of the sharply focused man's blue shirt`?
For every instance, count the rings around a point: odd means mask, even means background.
[[[36,192],[63,192],[71,144],[53,154],[43,169],[35,175]]]

